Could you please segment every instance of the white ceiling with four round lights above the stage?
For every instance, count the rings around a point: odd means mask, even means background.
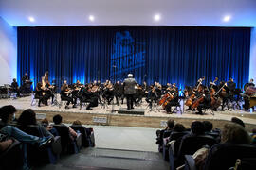
[[[256,0],[0,0],[0,16],[10,26],[256,26]]]

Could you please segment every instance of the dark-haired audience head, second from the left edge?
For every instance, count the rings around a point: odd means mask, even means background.
[[[36,114],[34,110],[24,110],[19,119],[18,124],[20,125],[36,125]]]

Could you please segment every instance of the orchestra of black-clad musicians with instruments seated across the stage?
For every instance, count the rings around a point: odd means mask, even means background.
[[[83,103],[86,103],[86,110],[92,110],[92,108],[97,107],[99,104],[119,106],[119,104],[123,104],[124,96],[127,97],[128,95],[128,109],[134,109],[133,103],[135,103],[135,106],[140,106],[145,98],[151,109],[153,105],[157,105],[159,108],[165,110],[166,113],[172,113],[172,107],[180,106],[181,99],[184,106],[188,107],[187,110],[195,111],[197,114],[202,114],[202,110],[209,108],[213,111],[225,110],[226,108],[229,110],[232,107],[230,103],[237,102],[241,98],[245,101],[243,104],[245,110],[254,108],[256,105],[256,88],[253,79],[250,79],[245,84],[245,93],[243,93],[243,90],[236,88],[236,83],[231,77],[227,82],[220,81],[218,77],[215,77],[213,81],[210,81],[209,85],[204,85],[206,84],[203,83],[205,79],[205,77],[200,77],[194,86],[185,86],[184,90],[179,90],[175,83],[161,85],[159,82],[155,82],[152,85],[148,85],[144,81],[140,85],[135,81],[132,85],[134,87],[132,97],[127,93],[127,84],[130,83],[127,80],[124,82],[118,80],[114,83],[110,80],[106,80],[105,83],[101,83],[100,80],[94,80],[86,84],[82,84],[77,80],[76,83],[70,85],[64,80],[60,88],[60,96],[62,101],[66,101],[66,109],[69,108],[70,103],[73,104],[73,108],[76,108],[77,102],[79,102],[80,108],[82,108]],[[29,79],[27,73],[25,73],[22,76],[22,86],[19,87],[14,78],[10,88],[19,97],[23,93],[24,87],[28,87],[29,85],[30,89],[31,83],[32,81]],[[131,89],[131,87],[129,88]],[[36,84],[34,91],[35,98],[39,99],[38,107],[41,107],[41,104],[47,106],[50,98],[51,104],[53,104],[54,99],[57,100],[55,98],[57,92],[58,89],[55,80],[50,84],[49,73],[46,71],[44,76],[42,76],[42,81]],[[113,101],[116,101],[116,103]]]

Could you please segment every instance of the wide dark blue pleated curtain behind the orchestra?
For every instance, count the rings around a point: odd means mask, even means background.
[[[248,81],[250,28],[197,26],[18,27],[18,81],[46,70],[61,86],[76,80],[123,80],[194,85],[215,76],[237,87]],[[35,83],[34,83],[35,85]]]

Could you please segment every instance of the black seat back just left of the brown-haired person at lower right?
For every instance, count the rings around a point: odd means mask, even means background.
[[[209,145],[211,147],[214,144],[217,144],[216,140],[209,135],[188,136],[182,139],[177,156],[178,158],[183,158],[184,155],[192,155],[204,145]]]

